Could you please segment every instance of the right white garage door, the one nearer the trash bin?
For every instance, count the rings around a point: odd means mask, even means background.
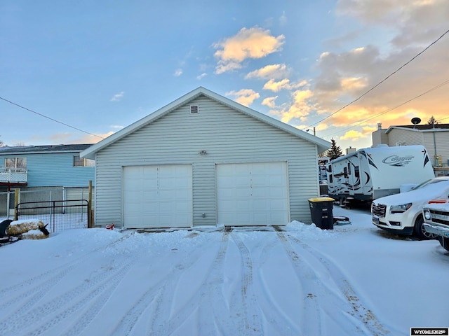
[[[217,165],[219,225],[286,225],[286,162]]]

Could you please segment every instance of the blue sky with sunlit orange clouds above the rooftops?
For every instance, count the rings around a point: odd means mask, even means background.
[[[366,148],[378,123],[449,123],[447,18],[447,0],[3,0],[0,141],[94,144],[203,86]]]

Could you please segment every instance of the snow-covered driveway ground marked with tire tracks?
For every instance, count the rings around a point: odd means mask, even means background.
[[[410,335],[449,326],[449,253],[368,211],[320,230],[78,229],[0,247],[0,335]]]

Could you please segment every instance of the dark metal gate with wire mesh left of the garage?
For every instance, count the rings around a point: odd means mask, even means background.
[[[51,232],[88,228],[88,209],[87,200],[22,202],[16,207],[18,221],[39,220]]]

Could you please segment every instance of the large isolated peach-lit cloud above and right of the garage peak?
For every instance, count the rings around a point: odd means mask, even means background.
[[[213,44],[217,49],[214,56],[218,59],[215,73],[241,69],[246,59],[260,59],[280,51],[284,39],[283,35],[272,36],[269,30],[257,26],[242,28],[235,36]]]

